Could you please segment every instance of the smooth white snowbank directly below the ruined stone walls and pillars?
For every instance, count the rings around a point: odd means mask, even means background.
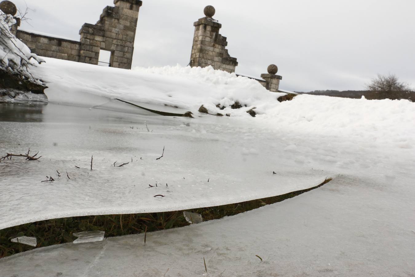
[[[119,98],[193,113],[204,105],[210,113],[249,117],[247,110],[256,107],[257,113],[264,113],[278,105],[277,98],[285,95],[267,91],[258,81],[211,66],[125,70],[46,58],[46,64],[39,66],[34,75],[47,83],[49,88],[45,93],[49,101],[90,107]],[[235,101],[247,107],[229,108]],[[228,108],[220,110],[217,104]]]

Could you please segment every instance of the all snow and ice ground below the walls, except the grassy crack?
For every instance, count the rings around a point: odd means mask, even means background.
[[[13,108],[10,116],[0,113],[0,153],[31,147],[43,156],[0,163],[2,227],[74,213],[217,205],[338,177],[289,201],[148,234],[146,246],[142,236],[131,236],[15,255],[0,260],[5,276],[26,276],[29,260],[44,264],[32,276],[202,276],[203,257],[210,276],[413,275],[414,103],[307,95],[279,103],[278,93],[256,81],[212,69],[126,71],[46,61],[34,74],[50,82],[52,104],[24,120]],[[139,115],[111,98],[190,110],[195,118]],[[234,101],[247,107],[215,107]],[[199,114],[202,104],[232,115]],[[253,107],[256,118],[246,113]],[[56,169],[60,179],[40,183]],[[146,189],[156,182],[160,187]]]

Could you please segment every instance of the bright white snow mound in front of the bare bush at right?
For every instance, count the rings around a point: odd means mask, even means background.
[[[257,120],[274,130],[415,147],[415,103],[408,100],[299,95]]]

